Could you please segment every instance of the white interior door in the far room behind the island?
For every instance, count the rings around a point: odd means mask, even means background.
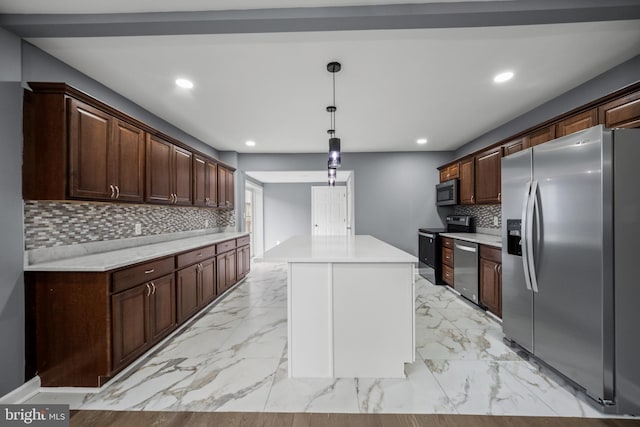
[[[311,187],[311,234],[347,234],[346,187]]]

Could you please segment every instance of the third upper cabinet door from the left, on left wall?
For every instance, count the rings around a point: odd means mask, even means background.
[[[171,203],[173,200],[173,174],[171,157],[173,144],[156,136],[147,135],[147,192],[146,201]]]

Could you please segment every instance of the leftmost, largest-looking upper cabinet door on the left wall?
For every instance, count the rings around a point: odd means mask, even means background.
[[[68,99],[67,102],[69,196],[110,199],[112,192],[107,159],[112,117],[75,99]]]

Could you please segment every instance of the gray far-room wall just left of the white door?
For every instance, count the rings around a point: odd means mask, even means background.
[[[311,184],[264,184],[264,248],[311,231]]]

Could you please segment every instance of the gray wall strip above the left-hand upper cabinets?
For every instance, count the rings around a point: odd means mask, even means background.
[[[216,149],[199,139],[183,132],[160,117],[148,112],[123,95],[114,92],[75,68],[71,68],[57,58],[38,49],[30,43],[22,42],[22,84],[27,82],[63,82],[75,87],[105,104],[111,105],[132,117],[170,135],[177,140],[212,157],[219,158]]]

